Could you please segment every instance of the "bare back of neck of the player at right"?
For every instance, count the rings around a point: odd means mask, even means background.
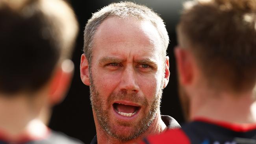
[[[254,101],[251,91],[242,94],[201,92],[191,97],[190,119],[204,117],[231,123],[255,123]]]

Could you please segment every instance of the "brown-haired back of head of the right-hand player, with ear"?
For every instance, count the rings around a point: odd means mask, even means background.
[[[252,90],[256,82],[255,0],[186,2],[177,34],[181,89],[189,93],[188,87],[197,85],[216,94],[236,95]]]

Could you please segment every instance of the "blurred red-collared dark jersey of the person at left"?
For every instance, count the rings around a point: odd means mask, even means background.
[[[68,137],[63,133],[51,131],[50,129],[42,137],[20,136],[18,140],[12,142],[5,133],[0,133],[0,144],[83,144],[79,140]]]

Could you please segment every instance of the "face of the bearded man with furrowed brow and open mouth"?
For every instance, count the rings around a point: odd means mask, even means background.
[[[159,111],[165,76],[163,47],[147,21],[108,18],[95,33],[90,64],[91,103],[111,137],[144,133]]]

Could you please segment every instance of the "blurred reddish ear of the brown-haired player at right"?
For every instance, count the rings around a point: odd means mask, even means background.
[[[193,69],[192,61],[187,50],[176,47],[174,49],[176,58],[176,66],[178,71],[178,80],[181,85],[188,85],[192,83]]]

